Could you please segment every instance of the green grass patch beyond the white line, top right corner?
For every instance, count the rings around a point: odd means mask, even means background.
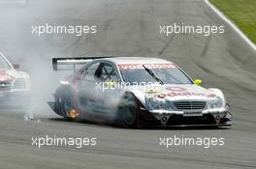
[[[240,30],[256,43],[256,0],[210,0],[210,2],[233,19]]]

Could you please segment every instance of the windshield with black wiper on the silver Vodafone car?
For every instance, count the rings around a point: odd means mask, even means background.
[[[167,67],[158,68],[148,65],[119,66],[119,70],[124,82],[130,84],[193,84],[184,72],[174,66],[170,67],[169,64]]]

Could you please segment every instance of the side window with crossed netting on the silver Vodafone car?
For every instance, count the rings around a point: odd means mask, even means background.
[[[95,73],[95,75],[99,78],[100,81],[119,81],[116,71],[114,70],[112,65],[107,63],[102,64],[99,70],[97,70],[97,72]]]

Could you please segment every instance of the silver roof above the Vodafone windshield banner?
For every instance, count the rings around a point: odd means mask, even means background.
[[[105,58],[104,60],[115,63],[116,65],[121,64],[157,64],[157,63],[170,63],[170,61],[160,59],[160,58],[151,58],[151,57],[110,57]]]

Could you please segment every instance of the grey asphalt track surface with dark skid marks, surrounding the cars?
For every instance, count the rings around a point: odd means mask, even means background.
[[[256,54],[203,0],[33,0],[0,5],[0,48],[32,76],[34,116],[1,110],[0,168],[256,168]],[[31,25],[96,24],[97,35],[37,37]],[[224,24],[225,34],[159,35],[159,24]],[[126,129],[68,123],[46,104],[57,83],[51,56],[154,56],[171,60],[224,91],[232,105],[230,129]],[[31,137],[97,137],[96,147],[31,146]],[[159,146],[159,137],[224,137],[225,145]]]

